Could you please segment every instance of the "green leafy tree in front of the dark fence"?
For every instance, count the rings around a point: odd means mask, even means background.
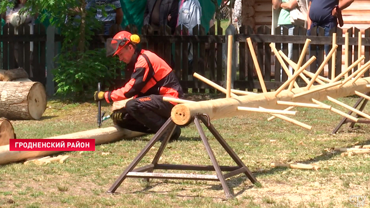
[[[7,6],[12,8],[14,4],[1,0],[0,11],[5,12]],[[57,68],[53,70],[57,94],[81,95],[94,90],[91,86],[98,82],[109,86],[115,78],[115,69],[124,67],[116,58],[106,57],[105,49],[88,50],[92,36],[102,28],[95,18],[97,8],[107,15],[103,6],[86,9],[86,0],[27,0],[19,11],[37,15],[38,22],[54,26],[63,37],[61,52],[56,57]]]

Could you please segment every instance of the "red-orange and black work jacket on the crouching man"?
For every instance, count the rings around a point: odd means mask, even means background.
[[[175,73],[156,54],[137,49],[127,65],[128,70],[132,68],[131,79],[124,87],[105,93],[107,103],[149,95],[183,98],[184,92]]]

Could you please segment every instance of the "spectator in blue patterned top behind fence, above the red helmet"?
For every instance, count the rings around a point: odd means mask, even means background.
[[[113,25],[116,27],[120,27],[122,20],[123,20],[123,11],[121,8],[121,2],[119,0],[92,0],[93,3],[91,6],[99,5],[105,6],[105,12],[107,16],[103,14],[101,8],[96,8],[96,16],[95,18],[103,23],[104,27],[104,35],[114,35],[110,33],[110,29]],[[111,7],[114,6],[114,8]]]

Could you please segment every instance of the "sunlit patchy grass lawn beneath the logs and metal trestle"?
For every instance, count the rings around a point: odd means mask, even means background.
[[[223,96],[224,97],[224,96]],[[203,99],[213,99],[206,97]],[[200,96],[189,95],[199,100]],[[338,99],[353,105],[357,98]],[[329,104],[329,102],[324,102]],[[46,138],[97,128],[97,104],[49,100],[42,120],[12,121],[17,138]],[[333,105],[334,106],[334,105]],[[335,105],[344,112],[347,110]],[[266,114],[254,113],[214,120],[212,123],[257,177],[254,186],[242,174],[227,179],[234,199],[225,200],[219,182],[127,178],[117,194],[106,194],[152,135],[96,146],[91,152],[65,152],[65,163],[45,165],[22,162],[0,166],[0,208],[353,208],[351,195],[367,196],[370,207],[370,156],[342,157],[334,147],[370,144],[370,126],[346,124],[332,135],[341,116],[328,110],[295,108],[289,116],[311,125],[306,130]],[[105,104],[103,111],[109,113]],[[369,105],[365,108],[369,112]],[[111,126],[111,121],[103,127]],[[206,131],[220,165],[235,165]],[[151,162],[160,143],[138,167]],[[103,154],[104,153],[104,154]],[[271,168],[271,162],[316,163],[319,171]],[[211,165],[193,124],[181,138],[167,145],[160,163]],[[165,171],[164,171],[165,172]],[[178,173],[208,173],[180,172]],[[215,174],[211,172],[209,174]]]

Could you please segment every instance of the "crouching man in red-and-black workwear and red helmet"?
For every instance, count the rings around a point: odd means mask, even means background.
[[[107,56],[118,55],[132,71],[128,83],[117,90],[98,92],[94,100],[112,103],[132,98],[124,108],[111,114],[113,123],[131,131],[155,134],[171,116],[176,105],[163,101],[163,96],[183,98],[184,92],[175,73],[167,63],[148,50],[140,50],[136,44],[138,35],[121,31],[107,40]],[[178,139],[180,127],[176,127],[171,140]]]

